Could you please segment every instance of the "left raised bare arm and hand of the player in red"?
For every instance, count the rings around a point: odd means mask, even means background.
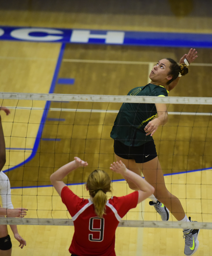
[[[56,172],[54,172],[50,176],[51,184],[57,190],[57,193],[60,196],[61,196],[62,189],[66,186],[65,183],[62,181],[65,178],[65,176],[80,166],[88,165],[87,162],[81,160],[79,157],[74,157],[74,159],[75,159],[74,161],[60,167]]]

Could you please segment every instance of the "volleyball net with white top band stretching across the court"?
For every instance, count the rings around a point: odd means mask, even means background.
[[[74,156],[89,164],[64,179],[78,196],[89,197],[84,184],[95,169],[109,173],[109,197],[131,193],[123,177],[109,169],[115,160],[110,131],[123,102],[167,104],[169,122],[153,136],[166,186],[186,215],[198,221],[184,223],[184,228],[211,229],[212,98],[203,97],[0,93],[0,106],[11,110],[9,116],[1,112],[3,171],[11,183],[14,208],[28,209],[26,218],[0,218],[0,223],[73,225],[49,177]],[[182,228],[172,218],[160,221],[148,202],[128,212],[119,226]]]

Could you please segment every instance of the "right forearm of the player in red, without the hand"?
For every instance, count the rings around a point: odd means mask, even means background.
[[[126,169],[126,172],[122,174],[125,179],[132,181],[139,190],[143,192],[153,194],[155,188],[150,185],[145,179],[143,179],[140,175]]]

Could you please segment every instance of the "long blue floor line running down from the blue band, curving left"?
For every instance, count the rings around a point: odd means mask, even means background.
[[[59,56],[58,56],[58,59],[57,59],[57,64],[56,64],[54,76],[52,78],[52,82],[51,82],[51,86],[50,86],[50,89],[49,89],[49,93],[53,93],[54,92],[55,85],[56,85],[56,82],[57,82],[57,76],[59,74],[60,66],[61,66],[61,63],[62,63],[62,60],[63,60],[63,54],[64,54],[64,50],[65,50],[65,45],[66,44],[62,44],[61,48],[60,48],[60,52],[59,52]],[[26,160],[21,162],[20,164],[14,166],[14,167],[11,167],[8,170],[4,170],[3,172],[9,172],[11,170],[14,170],[14,169],[20,167],[20,166],[23,166],[24,164],[28,163],[30,160],[32,160],[34,158],[34,156],[37,153],[37,149],[38,149],[41,137],[42,137],[42,131],[43,131],[43,127],[45,125],[45,121],[46,121],[48,112],[49,112],[50,103],[51,103],[51,101],[48,100],[46,102],[45,107],[44,107],[43,115],[42,115],[42,118],[41,118],[41,123],[40,123],[40,126],[38,128],[38,133],[37,133],[37,136],[36,136],[36,139],[35,139],[35,142],[34,142],[34,147],[33,147],[32,154]]]

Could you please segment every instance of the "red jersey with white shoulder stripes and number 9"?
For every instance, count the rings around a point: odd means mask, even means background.
[[[110,198],[102,218],[96,215],[90,199],[80,198],[68,187],[62,189],[61,198],[72,216],[75,228],[69,252],[79,256],[116,256],[116,228],[125,214],[136,207],[138,191]]]

